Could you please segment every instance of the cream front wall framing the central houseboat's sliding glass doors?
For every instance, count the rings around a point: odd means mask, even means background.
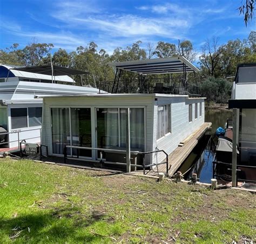
[[[42,127],[42,143],[49,146],[49,154],[52,154],[51,144],[51,107],[91,107],[91,112],[97,107],[145,107],[145,138],[146,151],[152,150],[153,135],[153,102],[152,96],[72,96],[72,97],[54,97],[44,98],[44,116]],[[95,118],[91,113],[92,119]],[[95,121],[92,121],[92,145],[96,146]],[[93,139],[94,138],[94,139]],[[95,140],[95,141],[93,141]],[[147,160],[149,161],[149,160]]]

